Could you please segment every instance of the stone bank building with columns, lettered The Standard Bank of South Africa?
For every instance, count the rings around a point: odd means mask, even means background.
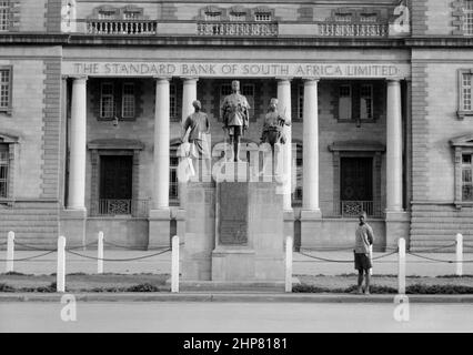
[[[379,251],[472,239],[472,45],[473,0],[0,0],[0,235],[185,235],[182,123],[198,99],[224,142],[238,80],[249,165],[272,98],[291,121],[296,245],[351,245],[362,210]]]

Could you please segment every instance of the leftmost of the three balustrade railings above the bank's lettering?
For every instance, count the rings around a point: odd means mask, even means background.
[[[152,20],[88,20],[87,32],[90,34],[157,34],[157,21]]]

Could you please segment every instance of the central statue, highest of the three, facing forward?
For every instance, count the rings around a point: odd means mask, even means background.
[[[228,131],[230,145],[233,145],[232,158],[240,161],[240,136],[248,130],[250,121],[250,104],[245,97],[240,94],[240,81],[232,81],[232,93],[223,99],[221,118],[223,128]]]

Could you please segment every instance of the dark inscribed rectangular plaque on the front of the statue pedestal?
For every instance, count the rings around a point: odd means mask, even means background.
[[[248,183],[222,182],[219,189],[219,242],[244,245],[248,243]]]

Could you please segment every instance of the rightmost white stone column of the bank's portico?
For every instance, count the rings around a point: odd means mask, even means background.
[[[388,81],[386,212],[402,210],[402,112],[400,80]]]

